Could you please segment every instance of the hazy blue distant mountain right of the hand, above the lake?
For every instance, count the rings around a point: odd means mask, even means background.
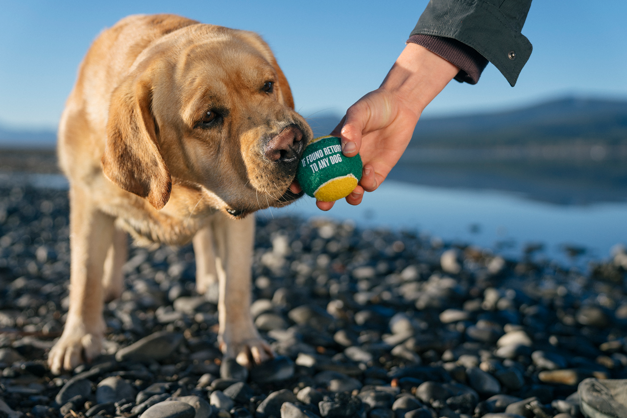
[[[409,147],[627,143],[627,100],[565,97],[523,109],[424,118]]]

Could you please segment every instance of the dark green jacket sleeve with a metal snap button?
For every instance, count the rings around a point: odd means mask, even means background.
[[[453,38],[474,48],[513,87],[531,55],[520,33],[530,6],[531,0],[431,0],[411,35]]]

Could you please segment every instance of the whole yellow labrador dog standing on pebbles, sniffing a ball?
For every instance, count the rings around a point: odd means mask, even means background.
[[[250,311],[253,212],[302,192],[312,131],[258,35],[161,14],[103,31],[59,128],[70,180],[70,309],[55,373],[100,354],[103,303],[122,292],[127,233],[193,243],[199,292],[218,281],[219,340],[250,367],[271,358]]]

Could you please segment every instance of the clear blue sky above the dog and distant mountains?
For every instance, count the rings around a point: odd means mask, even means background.
[[[379,86],[427,1],[383,3],[0,0],[0,124],[55,128],[91,41],[135,13],[256,31],[275,51],[305,117],[343,114]],[[477,85],[451,82],[424,115],[508,109],[567,94],[627,99],[625,16],[624,0],[534,0],[522,31],[534,52],[516,87],[488,65]]]

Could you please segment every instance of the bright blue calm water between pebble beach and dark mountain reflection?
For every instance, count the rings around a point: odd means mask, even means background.
[[[27,183],[65,189],[67,181],[53,174],[0,174],[0,182]],[[491,190],[420,186],[387,180],[366,193],[359,206],[344,200],[322,212],[308,196],[290,206],[272,208],[258,217],[292,215],[352,220],[360,228],[413,230],[446,242],[474,244],[499,254],[520,257],[527,244],[544,244],[536,257],[572,262],[564,245],[584,249],[576,264],[606,259],[611,247],[627,244],[627,202],[591,205],[554,205],[523,195]]]

